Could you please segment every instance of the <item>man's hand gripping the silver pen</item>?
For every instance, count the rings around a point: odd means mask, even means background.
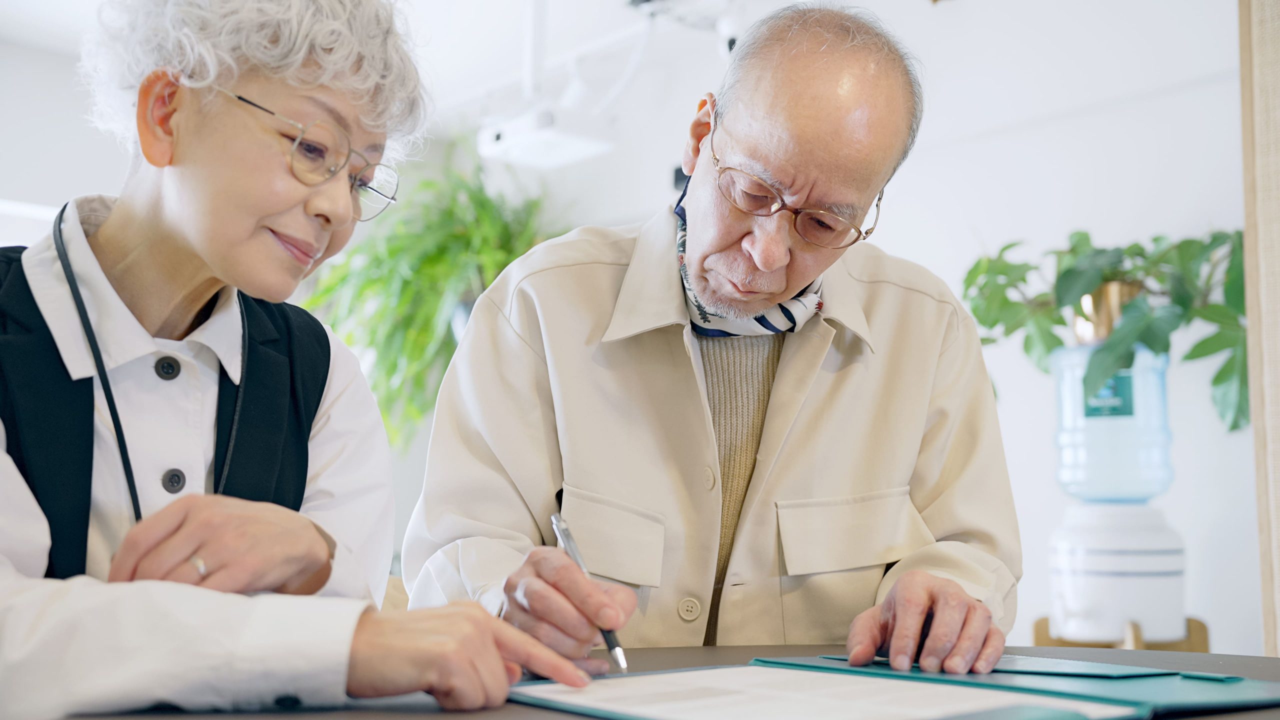
[[[604,643],[599,629],[621,629],[636,610],[631,588],[588,578],[558,547],[534,548],[525,564],[507,575],[503,589],[508,623],[593,674],[609,667],[608,660],[586,659],[593,647]]]

